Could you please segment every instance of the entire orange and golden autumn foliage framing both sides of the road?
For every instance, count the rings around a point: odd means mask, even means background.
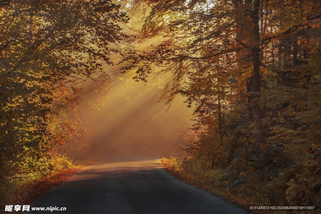
[[[128,13],[114,2],[0,1],[0,201],[18,178],[73,167],[57,155],[68,139],[88,155],[90,131],[66,112],[113,52],[135,81],[171,75],[161,100],[194,110],[190,145],[164,167],[243,205],[320,210],[321,2],[120,1]],[[126,14],[143,21],[130,44]]]

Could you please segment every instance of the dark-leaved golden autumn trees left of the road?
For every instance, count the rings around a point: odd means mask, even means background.
[[[39,171],[59,143],[51,112],[73,107],[78,83],[105,75],[100,62],[112,64],[110,44],[129,39],[119,27],[128,20],[111,0],[0,2],[1,193],[18,170]]]

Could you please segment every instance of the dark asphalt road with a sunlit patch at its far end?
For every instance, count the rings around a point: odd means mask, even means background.
[[[31,211],[31,207],[66,211]],[[26,213],[248,213],[211,193],[175,179],[159,159],[109,157],[84,167],[50,190]]]

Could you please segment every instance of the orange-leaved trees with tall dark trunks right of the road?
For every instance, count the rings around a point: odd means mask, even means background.
[[[163,98],[181,94],[195,105],[197,138],[187,151],[203,170],[222,170],[230,184],[251,175],[247,184],[259,180],[251,188],[270,204],[320,199],[320,1],[132,4],[150,9],[141,38],[165,41],[129,50],[124,70],[142,81],[154,67],[172,73]],[[265,186],[271,180],[278,188]]]

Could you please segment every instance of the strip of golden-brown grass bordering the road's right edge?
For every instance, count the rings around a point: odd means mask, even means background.
[[[160,164],[163,168],[169,171],[179,180],[193,185],[200,189],[221,196],[222,198],[234,204],[249,210],[250,206],[271,206],[267,202],[267,198],[263,197],[262,193],[251,193],[253,185],[265,185],[264,181],[246,180],[242,183],[230,183],[224,176],[226,171],[224,169],[209,169],[204,168],[198,164],[193,157],[175,157],[162,158]],[[253,191],[253,189],[252,189]],[[274,195],[274,197],[277,197]],[[274,204],[272,206],[283,206]],[[289,205],[290,206],[290,205]],[[291,205],[296,206],[296,205]],[[301,205],[300,205],[301,206]],[[320,208],[315,207],[314,210],[249,210],[253,213],[320,213]]]

